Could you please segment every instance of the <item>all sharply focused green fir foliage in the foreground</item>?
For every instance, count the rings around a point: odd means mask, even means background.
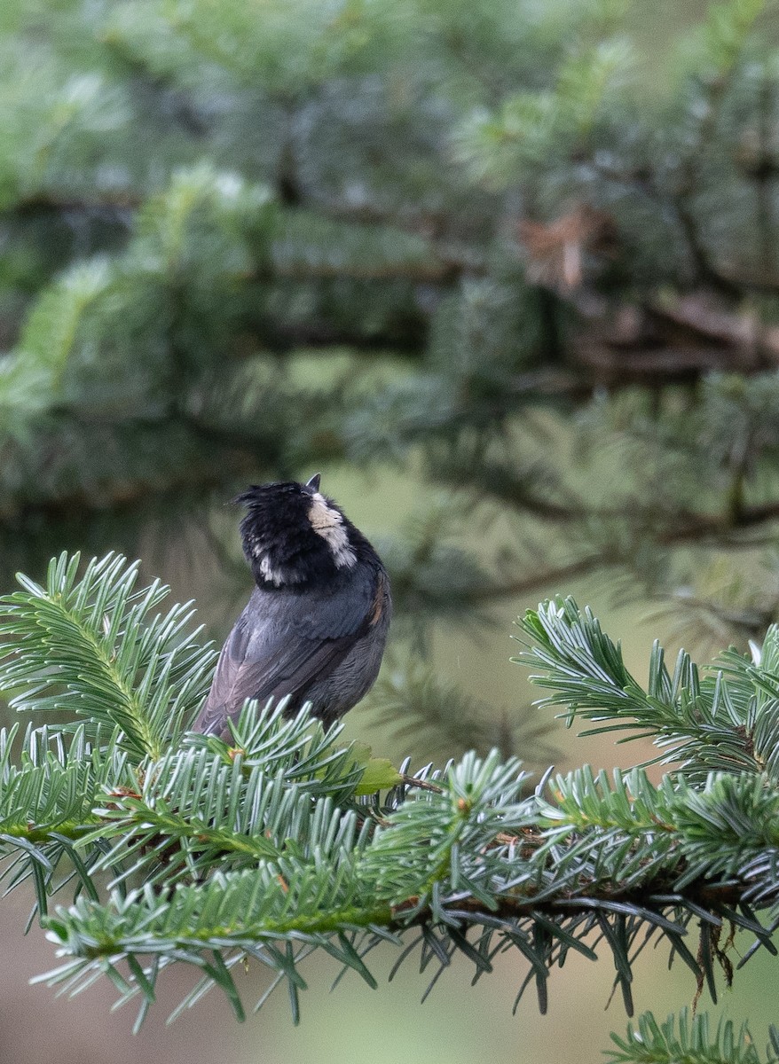
[[[338,745],[341,726],[324,733],[308,706],[286,719],[283,702],[248,701],[230,742],[188,732],[214,664],[189,606],[160,613],[167,588],[137,588],[137,566],[115,555],[80,576],[63,554],[45,585],[20,582],[0,600],[0,689],[20,710],[72,716],[20,742],[18,725],[0,733],[3,878],[34,884],[31,920],[65,958],[43,977],[52,985],[106,977],[140,1024],[163,971],[186,964],[198,981],[177,1014],[216,986],[243,1019],[236,974],[258,962],[297,1019],[310,954],[376,986],[366,959],[388,943],[396,968],[414,954],[432,965],[431,986],[455,953],[476,980],[518,950],[517,1001],[534,984],[542,1011],[569,954],[611,955],[632,1015],[650,941],[691,968],[696,1000],[705,987],[716,1000],[717,969],[733,981],[736,931],[752,938],[739,967],[776,955],[776,626],[752,658],[729,651],[702,671],[682,653],[672,674],[656,645],[642,686],[573,599],[529,612],[519,661],[549,698],[653,735],[675,768],[652,784],[641,767],[584,766],[528,791],[497,750],[409,777]],[[685,1012],[675,1025],[644,1014],[612,1059],[761,1059],[746,1028]]]

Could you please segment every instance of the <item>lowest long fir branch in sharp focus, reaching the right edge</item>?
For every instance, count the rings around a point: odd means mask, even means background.
[[[577,785],[573,817],[566,814],[565,799],[562,807],[542,807],[542,830],[533,845],[532,833],[523,836],[519,831],[537,816],[532,800],[511,804],[515,771],[512,764],[498,767],[494,759],[466,759],[442,794],[425,792],[404,801],[391,814],[391,825],[378,828],[372,837],[365,825],[354,834],[353,814],[326,800],[318,811],[328,812],[316,813],[311,821],[308,854],[286,848],[260,857],[259,867],[227,875],[219,870],[202,885],[160,892],[149,883],[129,897],[114,892],[106,903],[83,900],[69,910],[61,908],[47,926],[78,960],[63,971],[79,985],[107,959],[116,965],[122,957],[160,955],[202,967],[214,950],[226,951],[228,960],[238,950],[256,955],[288,980],[297,978],[288,952],[268,952],[267,943],[302,941],[321,947],[322,936],[355,931],[368,935],[366,941],[381,934],[397,942],[416,926],[466,953],[462,935],[474,929],[479,950],[513,945],[535,968],[546,970],[562,963],[568,949],[595,959],[582,940],[597,928],[629,994],[630,951],[647,926],[668,938],[701,979],[711,977],[712,962],[696,960],[684,944],[692,919],[703,917],[717,928],[727,917],[770,947],[769,932],[756,922],[749,899],[761,907],[773,903],[776,886],[770,898],[762,894],[756,901],[755,883],[736,885],[731,867],[722,863],[715,869],[723,854],[720,824],[707,817],[692,828],[680,827],[677,848],[674,831],[659,818],[663,802],[669,817],[685,808],[689,796],[677,796],[667,785],[662,797],[652,797],[646,780],[636,778],[640,809],[634,811],[618,780],[611,791],[584,779],[586,794]],[[714,789],[706,800],[713,811],[719,796]],[[580,807],[590,809],[584,830]],[[553,825],[547,831],[545,819]],[[703,827],[709,863],[696,868],[693,880],[684,846],[694,837],[692,845],[699,845]],[[501,841],[507,829],[519,831],[509,843]],[[659,839],[666,841],[664,847],[659,848]],[[766,848],[762,839],[735,835],[731,845],[733,866],[748,864]],[[544,930],[541,941],[538,929]],[[335,944],[330,941],[330,946]],[[479,950],[470,951],[478,966],[473,954],[479,957]],[[353,959],[345,963],[355,966]],[[232,994],[229,984],[210,978]],[[145,993],[132,976],[128,986]],[[629,1007],[629,997],[626,1001]]]

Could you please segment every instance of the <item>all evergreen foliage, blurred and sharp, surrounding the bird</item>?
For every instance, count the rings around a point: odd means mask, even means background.
[[[606,950],[630,1007],[645,940],[712,991],[726,925],[773,949],[776,3],[714,2],[651,62],[641,14],[0,5],[0,573],[33,577],[0,687],[55,711],[3,733],[0,842],[66,986],[107,975],[143,1018],[188,963],[185,1004],[216,984],[241,1015],[258,961],[296,1013],[310,952],[370,982],[365,952],[402,940],[476,977],[517,948],[542,1004],[550,966]],[[378,543],[397,624],[374,705],[403,738],[441,724],[455,760],[411,785],[279,708],[232,745],[187,735],[214,650],[105,552],[196,536],[243,581],[235,491],[387,463],[425,492]],[[44,578],[63,546],[103,560]],[[526,618],[549,703],[670,769],[531,794],[511,755],[550,760],[537,722],[496,724],[426,652],[592,573],[693,651],[736,649],[699,670],[658,647],[644,685],[571,601]],[[701,1016],[615,1046],[762,1060]]]

